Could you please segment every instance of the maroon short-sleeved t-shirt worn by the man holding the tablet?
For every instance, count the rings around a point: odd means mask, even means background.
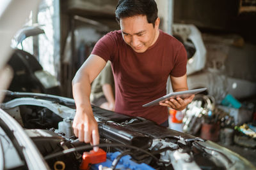
[[[186,74],[187,54],[182,43],[160,30],[154,45],[137,53],[125,43],[121,31],[113,31],[96,43],[92,54],[111,61],[116,112],[147,118],[157,124],[168,119],[166,106],[142,105],[166,94],[169,75]]]

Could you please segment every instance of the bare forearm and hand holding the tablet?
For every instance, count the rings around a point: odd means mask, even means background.
[[[170,80],[172,83],[173,92],[188,90],[187,74],[181,77],[170,76]],[[173,108],[174,110],[184,110],[184,108],[186,108],[186,106],[191,103],[194,97],[195,95],[192,95],[184,100],[180,97],[177,97],[176,99],[170,99],[168,101],[165,101],[164,103],[160,103],[160,105],[168,106],[169,108]]]

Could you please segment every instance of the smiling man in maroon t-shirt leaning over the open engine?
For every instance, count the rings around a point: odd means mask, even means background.
[[[118,113],[168,126],[168,107],[183,110],[194,97],[178,97],[159,106],[142,107],[166,94],[168,76],[174,92],[188,90],[186,50],[177,39],[159,30],[154,0],[120,0],[115,13],[121,30],[109,32],[97,42],[72,81],[76,101],[74,134],[79,141],[93,145],[99,143],[99,132],[89,100],[90,83],[108,60],[115,78]]]

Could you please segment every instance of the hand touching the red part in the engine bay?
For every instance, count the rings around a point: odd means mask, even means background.
[[[73,121],[74,134],[81,142],[99,145],[98,124],[90,112],[92,111],[76,110]],[[93,150],[96,152],[98,147],[94,147]]]

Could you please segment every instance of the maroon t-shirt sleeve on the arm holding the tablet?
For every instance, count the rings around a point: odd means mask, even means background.
[[[187,52],[183,45],[180,45],[179,50],[174,58],[174,66],[170,73],[171,76],[180,77],[184,76],[187,73]]]

